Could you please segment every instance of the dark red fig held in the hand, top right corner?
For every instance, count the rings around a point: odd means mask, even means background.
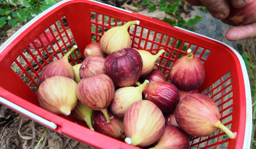
[[[234,6],[230,4],[228,18],[237,25],[252,24],[256,22],[255,7],[255,0],[248,0],[248,3],[241,8],[234,8]]]

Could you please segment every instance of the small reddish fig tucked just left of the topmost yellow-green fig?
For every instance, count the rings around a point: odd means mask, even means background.
[[[101,48],[100,48],[100,43],[95,42],[95,43],[89,43],[85,48],[84,48],[84,57],[89,57],[90,55],[99,55],[104,58],[106,58],[108,55],[104,53]]]

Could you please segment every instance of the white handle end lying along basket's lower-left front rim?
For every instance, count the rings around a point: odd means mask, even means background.
[[[40,122],[41,124],[51,128],[56,129],[57,125],[53,122],[49,122],[48,120],[45,120],[42,117],[39,117],[38,115],[35,115],[34,113],[31,113],[28,110],[25,110],[24,108],[21,108],[17,104],[13,104],[12,102],[8,101],[7,99],[4,99],[3,97],[0,97],[0,103],[8,106],[9,108],[12,108],[15,111],[19,111],[19,113],[22,113],[22,115],[26,115],[27,117],[36,120],[37,122]]]

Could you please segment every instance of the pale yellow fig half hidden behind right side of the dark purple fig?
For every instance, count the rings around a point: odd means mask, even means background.
[[[156,60],[165,51],[162,49],[156,55],[152,55],[150,52],[147,52],[145,50],[138,50],[138,52],[140,53],[143,60],[143,67],[140,75],[140,78],[143,78],[151,73],[151,71],[154,69]]]

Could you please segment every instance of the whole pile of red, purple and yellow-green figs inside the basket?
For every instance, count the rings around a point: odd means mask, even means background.
[[[38,101],[56,115],[71,115],[91,131],[143,148],[190,148],[195,137],[221,129],[220,111],[211,98],[200,94],[204,64],[193,55],[173,62],[170,72],[154,69],[164,50],[152,55],[131,48],[127,29],[139,21],[112,27],[99,42],[84,49],[81,64],[68,56],[51,62],[40,73]]]

